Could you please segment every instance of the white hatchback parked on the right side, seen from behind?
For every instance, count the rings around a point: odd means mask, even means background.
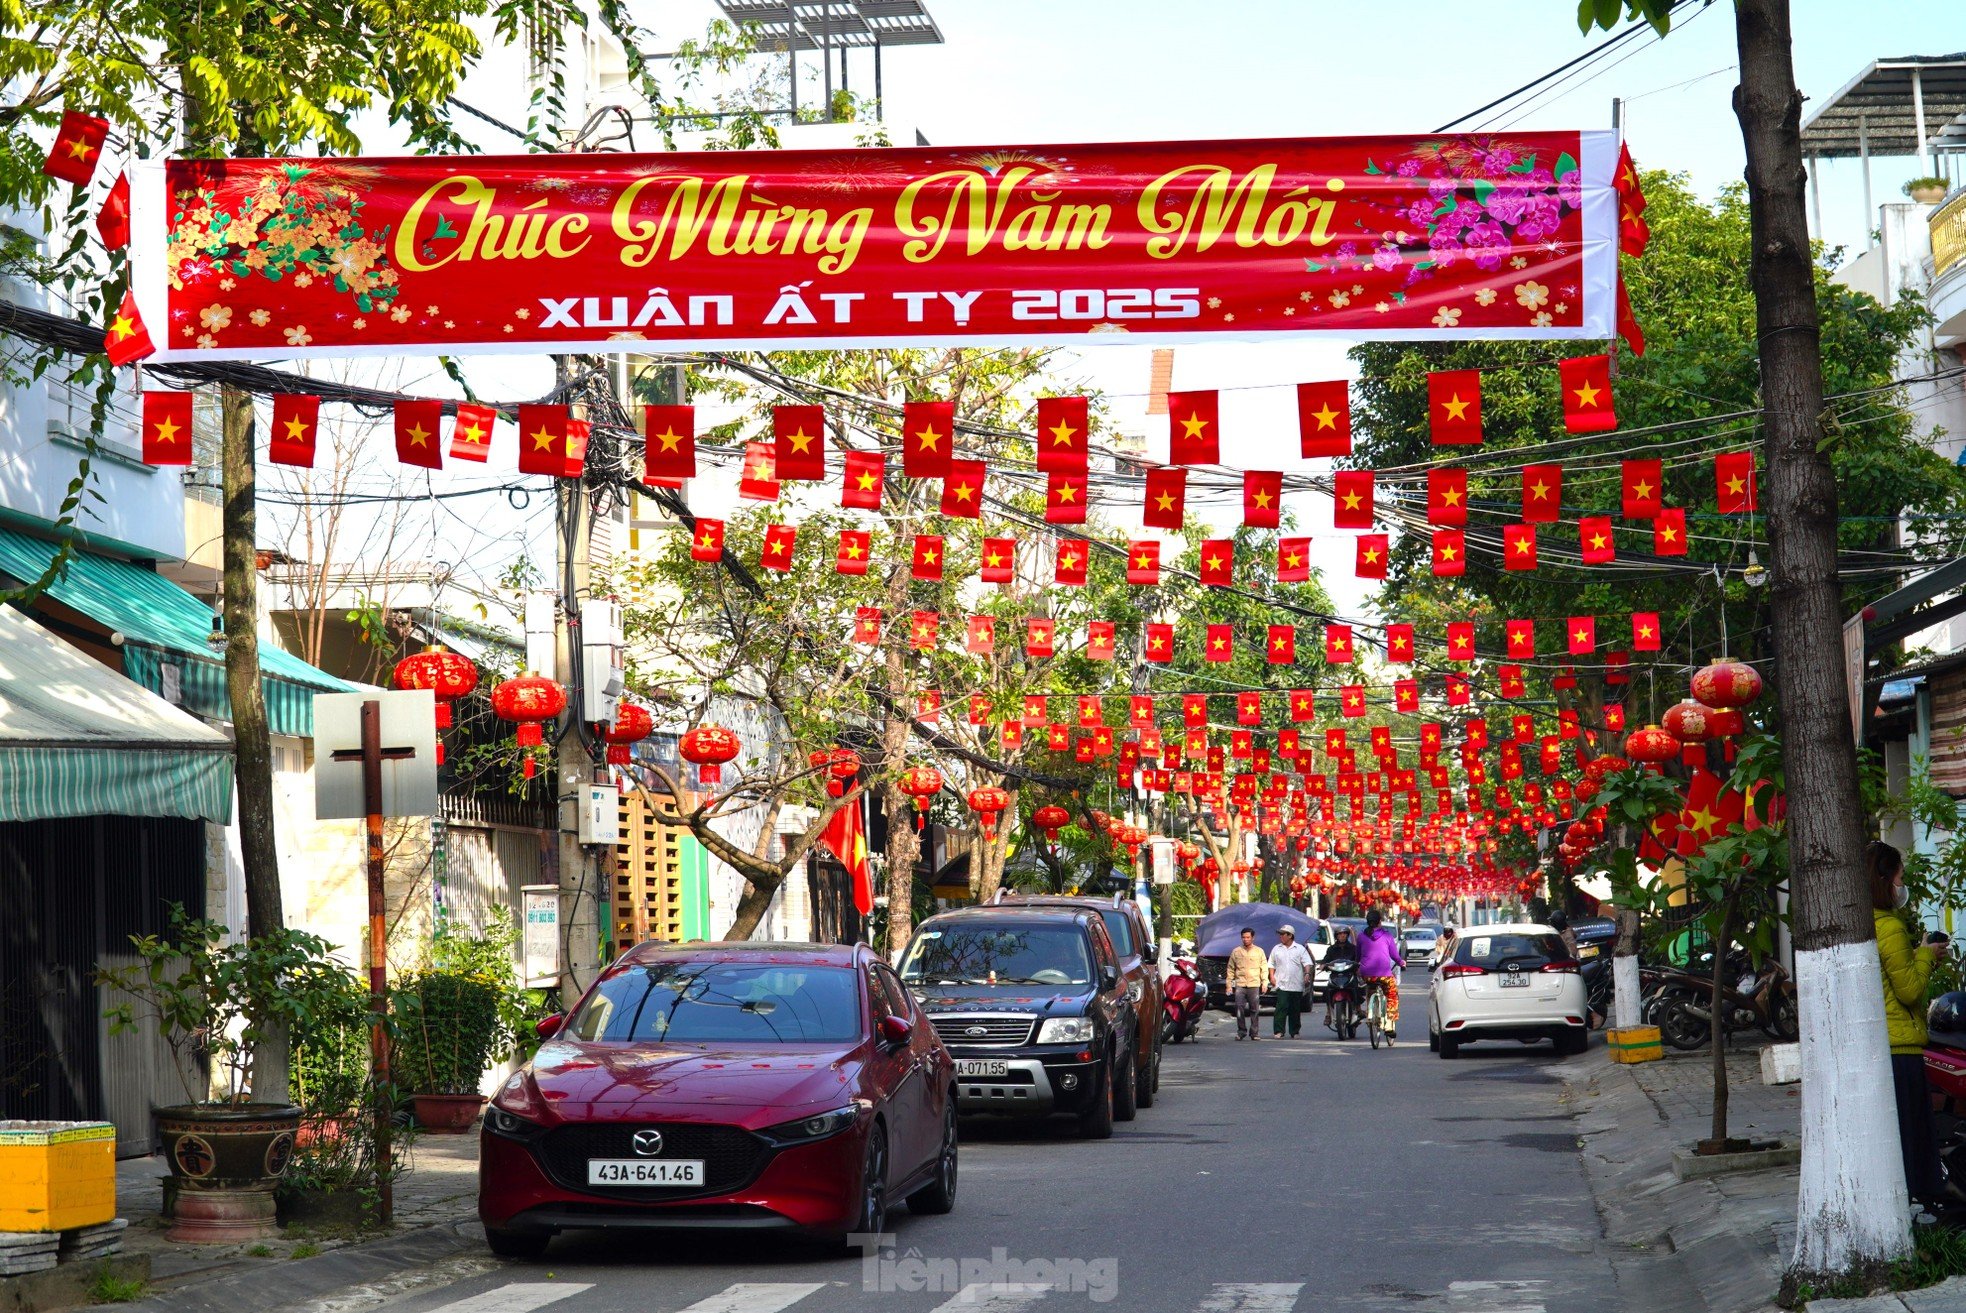
[[[1473,926],[1427,989],[1427,1048],[1455,1057],[1474,1040],[1553,1040],[1583,1054],[1590,1002],[1563,936],[1530,922]]]

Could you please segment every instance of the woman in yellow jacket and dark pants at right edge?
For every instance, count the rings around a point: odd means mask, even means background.
[[[1889,843],[1864,853],[1870,869],[1870,904],[1878,928],[1878,967],[1883,975],[1883,1020],[1891,1030],[1891,1085],[1897,1091],[1897,1144],[1905,1154],[1905,1187],[1917,1203],[1952,1203],[1966,1197],[1938,1171],[1933,1138],[1933,1101],[1925,1087],[1925,983],[1938,965],[1931,945],[1911,943],[1899,920],[1905,906],[1905,859]]]

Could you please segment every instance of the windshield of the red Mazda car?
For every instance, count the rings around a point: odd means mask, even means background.
[[[602,977],[566,1024],[607,1044],[847,1044],[859,971],[749,961],[651,961]]]

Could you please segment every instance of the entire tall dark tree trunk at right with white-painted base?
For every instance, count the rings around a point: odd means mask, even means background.
[[[1822,346],[1787,0],[1736,0],[1734,114],[1748,153],[1750,279],[1762,356],[1769,619],[1789,786],[1803,1030],[1803,1168],[1791,1280],[1911,1252],[1864,871],[1864,814],[1836,578],[1836,474],[1822,444]]]

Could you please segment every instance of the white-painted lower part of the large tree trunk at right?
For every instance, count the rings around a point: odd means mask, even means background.
[[[1897,1150],[1897,1101],[1883,1024],[1878,943],[1795,953],[1803,1026],[1799,1272],[1844,1272],[1911,1252],[1911,1203]]]

